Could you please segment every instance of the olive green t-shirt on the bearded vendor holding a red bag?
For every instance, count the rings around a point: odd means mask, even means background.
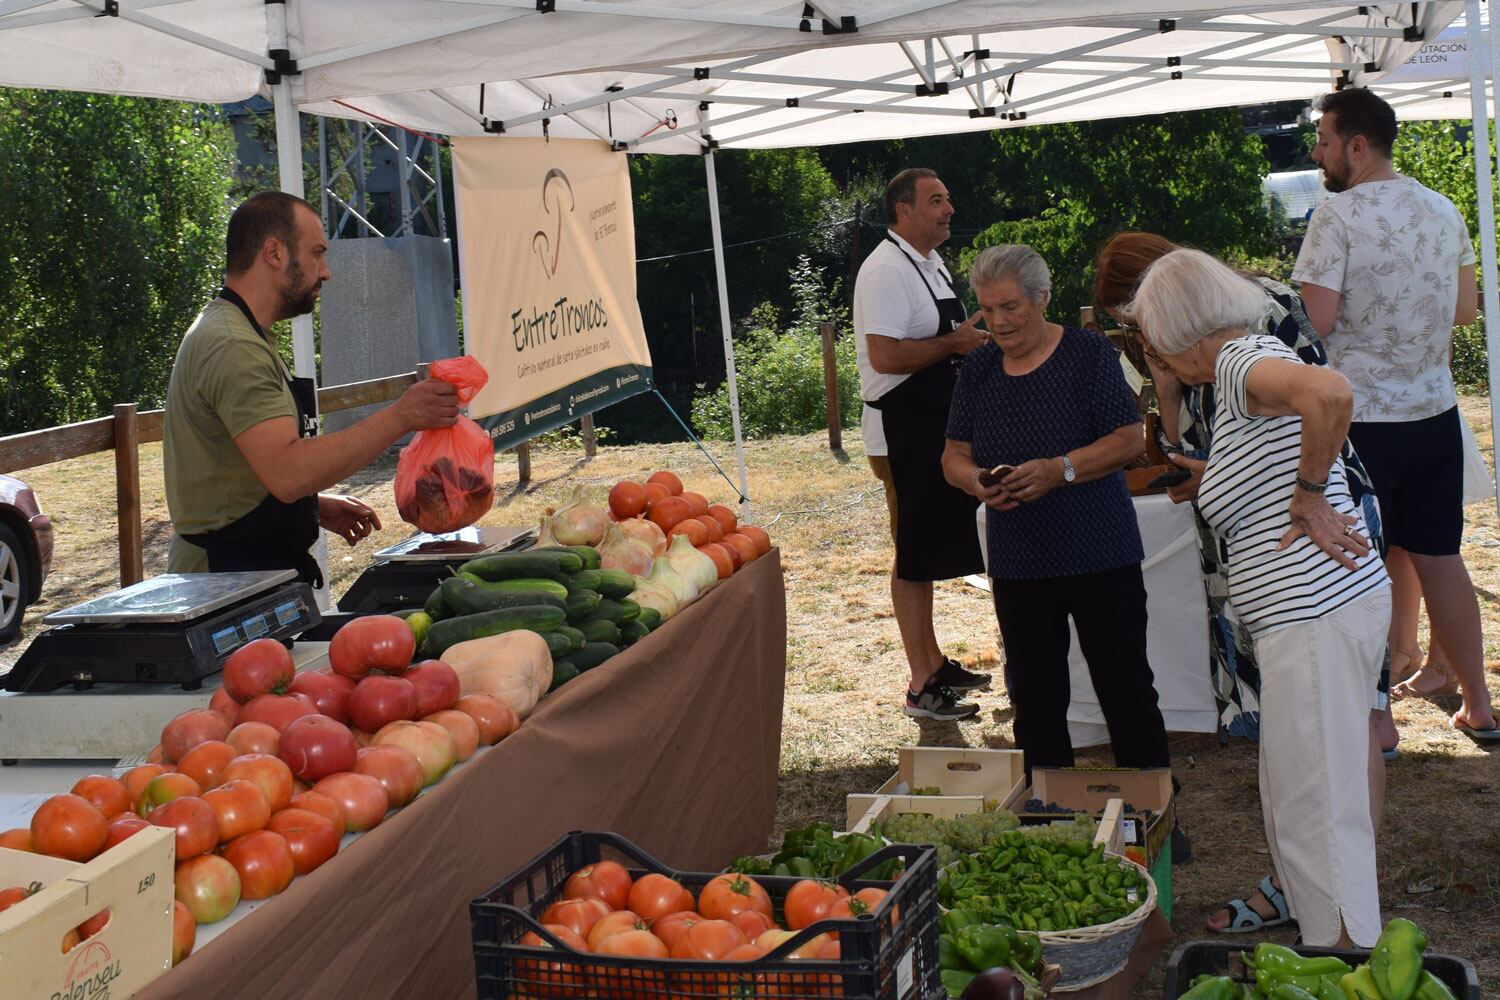
[[[170,573],[207,573],[208,555],[182,535],[224,528],[268,490],[234,439],[276,417],[297,417],[286,364],[237,307],[214,298],[177,348],[166,385],[162,460],[172,541]]]

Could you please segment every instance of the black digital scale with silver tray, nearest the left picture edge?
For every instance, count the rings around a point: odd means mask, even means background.
[[[3,678],[10,691],[177,684],[195,691],[254,639],[288,642],[321,621],[292,570],[152,577],[52,612]]]

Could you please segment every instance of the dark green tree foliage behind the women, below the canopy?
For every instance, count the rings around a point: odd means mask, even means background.
[[[1120,229],[1148,229],[1220,256],[1275,250],[1260,193],[1266,157],[1239,111],[1190,111],[1000,129],[990,189],[999,222],[964,252],[1026,243],[1052,267],[1052,318],[1089,304],[1094,255]]]

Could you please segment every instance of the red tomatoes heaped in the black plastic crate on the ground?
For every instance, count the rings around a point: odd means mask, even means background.
[[[694,900],[675,879],[657,873],[632,879],[618,862],[602,861],[574,871],[562,888],[562,898],[542,912],[540,922],[552,939],[580,954],[738,963],[765,958],[819,921],[848,921],[872,913],[885,895],[885,889],[874,888],[850,895],[837,883],[804,879],[782,901],[786,921],[782,927],[776,922],[771,897],[750,876],[717,876]],[[525,934],[520,945],[555,948],[536,931]],[[794,961],[838,957],[837,933],[816,934],[777,955],[778,960]],[[546,997],[572,996],[580,990],[597,990],[602,996],[651,997],[670,988],[663,973],[590,967],[576,960],[522,960],[516,963],[516,972],[526,981],[518,987]],[[694,978],[696,990],[708,973],[684,975]],[[831,984],[826,973],[772,978],[777,979],[772,987],[790,991],[822,993]]]

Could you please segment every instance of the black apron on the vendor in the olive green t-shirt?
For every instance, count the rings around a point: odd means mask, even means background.
[[[230,288],[219,289],[219,298],[236,306],[266,336],[250,307]],[[297,436],[318,433],[318,388],[310,378],[286,376],[297,406]],[[318,541],[318,496],[303,496],[290,504],[267,493],[250,513],[224,528],[183,535],[208,553],[208,573],[242,573],[248,570],[296,570],[297,579],[315,588],[322,586],[322,571],[309,549]]]

